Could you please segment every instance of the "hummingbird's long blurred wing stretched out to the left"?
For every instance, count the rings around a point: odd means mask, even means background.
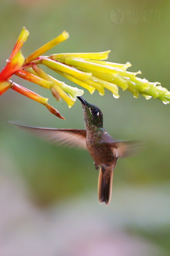
[[[17,128],[22,129],[28,133],[36,135],[40,139],[49,141],[50,143],[64,145],[64,146],[77,146],[86,149],[86,130],[79,129],[55,129],[55,128],[41,128],[18,125],[10,122]]]

